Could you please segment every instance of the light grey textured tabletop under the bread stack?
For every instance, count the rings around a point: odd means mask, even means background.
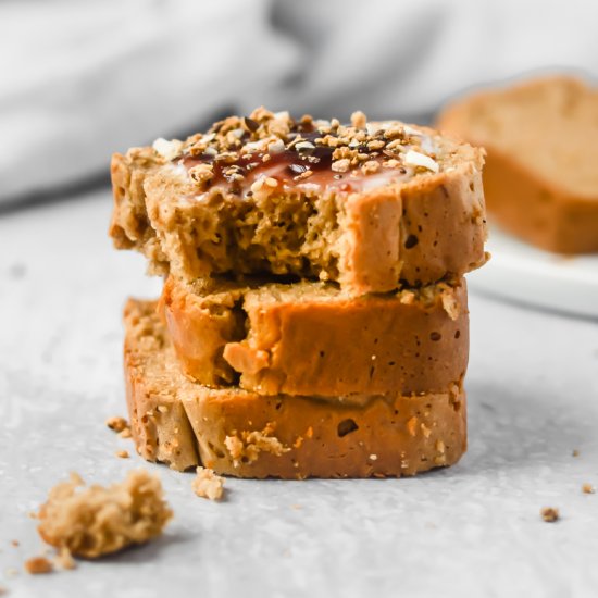
[[[114,457],[130,440],[120,310],[153,296],[112,250],[108,191],[0,220],[0,586],[9,596],[598,595],[598,323],[471,296],[470,450],[411,479],[226,483]],[[491,267],[488,265],[487,267]],[[473,274],[475,275],[475,274]],[[573,457],[573,449],[580,451]],[[159,472],[175,519],[153,544],[33,577],[35,510],[68,471]],[[555,506],[562,520],[544,523]],[[20,541],[18,547],[11,545]],[[16,569],[15,574],[12,569]]]

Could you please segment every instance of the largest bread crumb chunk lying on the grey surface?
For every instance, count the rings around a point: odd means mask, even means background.
[[[37,530],[48,544],[95,559],[159,536],[172,515],[160,479],[145,470],[108,487],[86,487],[72,473],[50,490]]]

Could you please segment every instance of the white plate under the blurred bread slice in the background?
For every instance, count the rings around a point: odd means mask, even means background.
[[[468,284],[472,290],[531,306],[598,317],[598,254],[568,257],[524,244],[496,225],[487,244],[493,254]]]

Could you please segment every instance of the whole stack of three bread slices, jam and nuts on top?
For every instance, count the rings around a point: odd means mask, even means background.
[[[239,477],[413,475],[466,447],[483,155],[400,122],[256,110],[112,161],[139,454]]]

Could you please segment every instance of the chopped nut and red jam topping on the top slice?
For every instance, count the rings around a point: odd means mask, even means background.
[[[176,140],[157,140],[158,149],[152,154],[154,160],[158,151],[161,159],[178,159],[199,192],[225,183],[232,194],[258,192],[265,197],[269,180],[260,183],[258,189],[253,185],[264,175],[273,178],[264,173],[267,163],[273,169],[281,166],[273,188],[301,182],[315,170],[348,173],[351,179],[375,174],[382,167],[407,174],[406,165],[411,166],[411,175],[438,172],[433,135],[398,122],[369,123],[360,111],[344,125],[337,119],[304,115],[295,120],[288,112],[258,108],[249,116],[229,116],[214,123],[207,134],[192,135],[180,147]]]

